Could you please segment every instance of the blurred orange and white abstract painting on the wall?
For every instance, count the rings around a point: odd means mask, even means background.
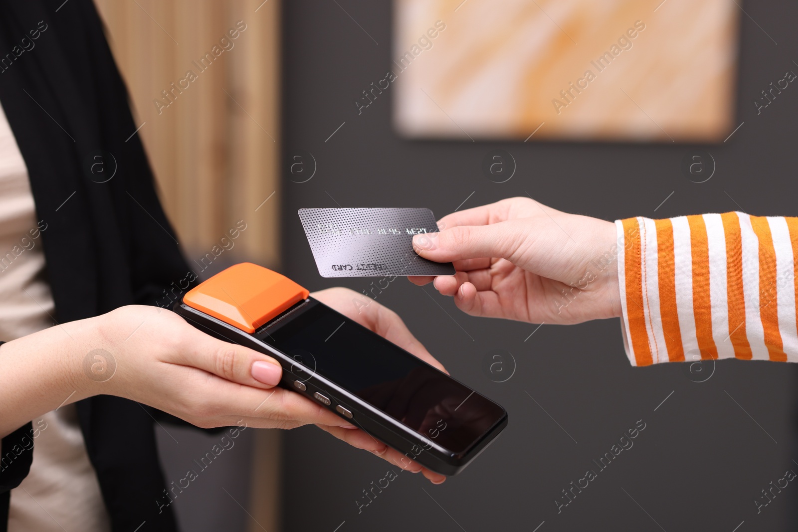
[[[721,142],[730,0],[394,0],[394,124],[409,138]]]

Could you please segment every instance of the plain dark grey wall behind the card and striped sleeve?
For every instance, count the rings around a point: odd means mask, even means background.
[[[391,89],[360,116],[354,105],[389,69],[390,2],[286,2],[283,270],[311,290],[369,286],[369,279],[319,277],[299,207],[429,207],[441,216],[472,191],[464,207],[528,191],[551,207],[603,219],[733,210],[798,215],[798,87],[791,85],[760,116],[752,103],[786,69],[798,72],[792,63],[798,60],[798,5],[746,2],[745,10],[778,45],[741,15],[736,124],[745,125],[729,142],[701,147],[717,171],[697,184],[681,172],[682,158],[696,148],[687,145],[401,140],[390,120]],[[492,183],[480,170],[495,148],[517,161],[507,183]],[[302,151],[314,156],[318,170],[307,183],[293,183],[286,161]],[[691,375],[685,365],[630,367],[618,320],[543,325],[529,337],[536,325],[468,317],[451,300],[405,279],[378,301],[397,310],[453,376],[503,404],[509,427],[462,475],[437,487],[402,473],[361,514],[355,500],[389,465],[317,428],[292,431],[286,435],[285,530],[471,532],[535,530],[541,522],[540,532],[605,526],[730,532],[741,522],[741,532],[795,530],[790,507],[798,487],[791,483],[760,514],[753,502],[785,470],[798,471],[793,365],[722,361],[709,380],[697,383],[712,369]],[[507,382],[492,382],[482,371],[492,349],[515,357]],[[558,514],[561,490],[595,468],[592,460],[637,420],[646,429],[634,447]]]

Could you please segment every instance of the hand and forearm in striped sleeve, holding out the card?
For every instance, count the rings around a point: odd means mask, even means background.
[[[455,262],[456,275],[435,287],[472,315],[622,317],[633,365],[798,361],[798,219],[729,212],[612,224],[513,198],[448,215],[440,228],[414,246]]]

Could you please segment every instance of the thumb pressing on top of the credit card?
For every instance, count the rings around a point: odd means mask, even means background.
[[[483,257],[506,258],[512,262],[526,233],[516,220],[487,226],[456,226],[437,233],[417,234],[413,237],[413,249],[435,262]]]

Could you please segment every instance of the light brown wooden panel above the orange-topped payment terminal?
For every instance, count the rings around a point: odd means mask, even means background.
[[[262,2],[97,0],[189,258],[243,219],[230,255],[279,266],[279,2]]]

